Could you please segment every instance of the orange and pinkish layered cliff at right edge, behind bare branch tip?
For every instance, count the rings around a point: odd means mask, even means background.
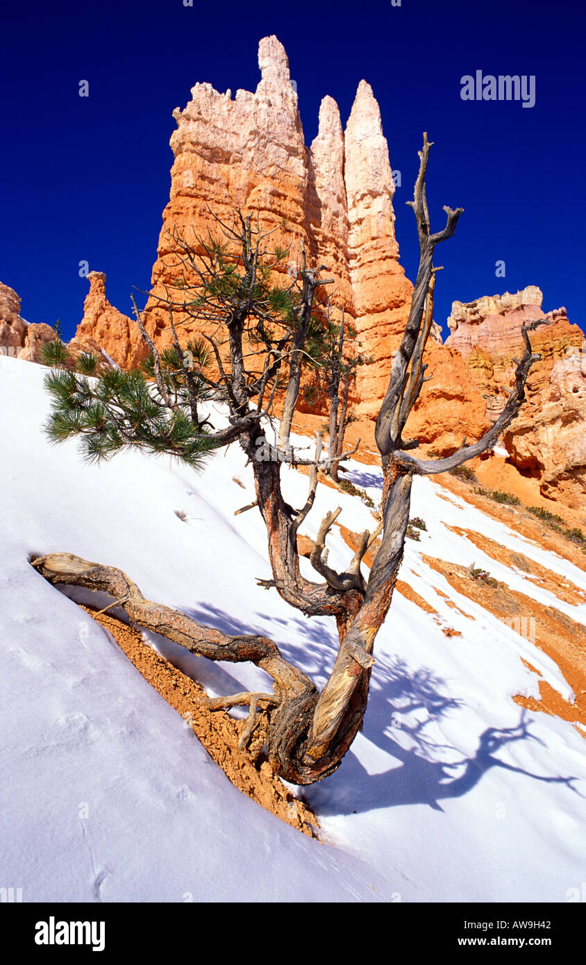
[[[493,421],[514,384],[516,359],[523,352],[521,326],[544,318],[530,333],[542,356],[526,385],[527,400],[504,435],[510,461],[539,479],[549,499],[580,509],[586,494],[586,344],[566,309],[544,313],[537,286],[512,294],[455,302],[448,319],[446,346],[457,349]]]

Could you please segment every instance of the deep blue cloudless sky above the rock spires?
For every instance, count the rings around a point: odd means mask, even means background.
[[[107,274],[130,309],[148,289],[170,186],[171,112],[196,81],[254,90],[257,44],[276,34],[297,82],[306,143],[321,97],[343,124],[361,78],[375,91],[391,164],[402,261],[418,259],[412,197],[422,131],[435,142],[428,175],[433,230],[443,205],[464,207],[441,246],[435,317],[454,299],[544,290],[584,327],[584,14],[581,0],[360,0],[202,3],[182,0],[4,0],[1,14],[0,281],[22,315],[68,337],[88,290],[82,260]],[[460,77],[534,74],[536,105],[468,102]],[[87,79],[90,96],[78,96]],[[495,262],[506,277],[495,277]]]

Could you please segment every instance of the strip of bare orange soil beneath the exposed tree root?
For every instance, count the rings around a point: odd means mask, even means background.
[[[185,726],[192,728],[209,757],[219,764],[238,790],[303,834],[317,837],[320,825],[315,814],[302,800],[293,797],[264,758],[267,724],[264,711],[257,710],[256,726],[248,741],[248,749],[242,750],[240,743],[247,730],[247,722],[234,720],[224,710],[216,709],[225,705],[224,698],[209,700],[200,684],[156,653],[132,626],[107,613],[97,613],[90,607],[84,606],[82,609],[110,631],[136,669],[181,714]],[[239,703],[237,698],[244,696],[250,695],[237,694],[230,704]],[[253,696],[258,700],[265,695]]]

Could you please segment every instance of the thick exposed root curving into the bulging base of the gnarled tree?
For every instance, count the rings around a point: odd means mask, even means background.
[[[399,547],[400,559],[402,545]],[[334,670],[321,694],[308,676],[281,654],[276,644],[259,634],[229,636],[191,620],[179,610],[146,599],[122,569],[91,563],[71,553],[49,553],[31,565],[51,584],[84,587],[109,593],[133,625],[144,626],[209,660],[250,661],[273,679],[273,694],[238,694],[213,699],[214,706],[249,703],[251,712],[241,735],[245,743],[257,724],[259,703],[265,712],[266,757],[273,772],[293,784],[309,785],[333,773],[362,723],[368,700],[371,655],[377,625],[352,626],[341,645]],[[392,588],[390,593],[392,593]],[[390,594],[385,602],[385,612]],[[109,607],[104,608],[105,610]],[[364,614],[369,619],[368,611]],[[378,624],[382,622],[380,618]],[[355,699],[356,698],[356,699]]]

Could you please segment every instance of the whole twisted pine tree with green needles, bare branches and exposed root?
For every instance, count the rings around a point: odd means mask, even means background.
[[[293,508],[281,491],[281,465],[289,458],[289,435],[297,400],[308,333],[327,316],[323,266],[311,269],[302,253],[301,267],[288,284],[279,283],[287,252],[267,248],[267,236],[254,229],[250,217],[239,212],[231,225],[220,223],[223,245],[198,239],[188,244],[174,234],[177,282],[160,299],[169,317],[174,347],[159,353],[140,312],[137,324],[151,350],[146,371],[108,371],[96,380],[79,373],[53,372],[47,388],[53,400],[48,430],[55,441],[81,436],[91,459],[114,455],[127,446],[165,453],[199,466],[215,449],[236,442],[254,472],[256,505],[265,522],[272,579],[260,581],[274,589],[306,616],[335,618],[340,647],[330,676],[318,691],[313,681],[286,660],[269,639],[251,634],[229,636],[177,610],[144,598],[122,570],[90,563],[68,553],[53,553],[32,562],[51,583],[83,586],[110,593],[129,620],[156,630],[210,660],[252,661],[272,677],[273,692],[244,693],[209,699],[209,706],[249,705],[241,741],[252,728],[265,728],[267,759],[276,774],[299,785],[311,784],[340,765],[362,724],[368,702],[377,632],[391,605],[403,557],[409,521],[413,476],[441,473],[490,449],[515,419],[524,400],[524,385],[534,355],[523,328],[525,351],[516,366],[515,385],[494,425],[472,445],[446,458],[421,460],[412,455],[416,439],[405,439],[409,413],[425,378],[423,361],[433,321],[433,253],[450,238],[461,208],[445,207],[445,227],[433,233],[426,201],[425,180],[431,144],[424,134],[413,208],[420,246],[420,262],[409,316],[393,360],[389,384],[377,418],[376,439],[381,457],[383,488],[379,529],[381,536],[368,577],[361,562],[373,537],[367,531],[343,572],[328,565],[325,541],[340,510],[321,522],[311,563],[319,580],[300,572],[297,532],[312,510],[318,474],[327,468],[318,436],[310,466],[309,492],[301,510]],[[275,280],[276,279],[276,280]],[[197,365],[184,365],[174,319],[201,326],[202,339],[191,345]],[[180,324],[180,323],[178,323]],[[211,334],[210,334],[211,333]],[[204,345],[208,354],[204,351]],[[278,438],[271,441],[271,416],[277,390],[284,396]],[[228,427],[216,429],[209,401],[223,400]],[[331,440],[330,440],[331,444]],[[333,454],[337,457],[337,453]],[[346,454],[348,455],[348,454]]]

